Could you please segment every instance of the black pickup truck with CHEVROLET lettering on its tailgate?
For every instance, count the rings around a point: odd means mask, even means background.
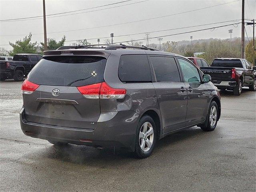
[[[220,90],[233,90],[240,95],[242,87],[256,91],[256,67],[251,67],[245,59],[216,58],[210,67],[200,68],[212,77],[212,83]]]

